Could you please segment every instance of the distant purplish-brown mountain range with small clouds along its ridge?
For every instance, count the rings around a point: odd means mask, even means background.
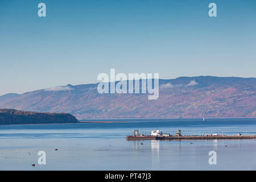
[[[0,108],[70,113],[78,119],[256,117],[256,78],[159,80],[157,100],[148,100],[148,94],[100,94],[97,85],[10,93],[0,96]]]

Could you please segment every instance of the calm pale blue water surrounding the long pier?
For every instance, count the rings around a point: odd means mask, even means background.
[[[255,119],[147,119],[123,123],[0,126],[1,170],[255,170],[256,140],[126,141],[149,134],[255,135]],[[192,144],[191,144],[192,143]],[[55,151],[55,148],[58,150]],[[46,151],[46,165],[38,165]],[[209,165],[209,151],[217,164]],[[36,164],[32,167],[31,164]]]

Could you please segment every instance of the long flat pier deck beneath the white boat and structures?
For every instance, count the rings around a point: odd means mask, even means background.
[[[170,136],[170,137],[163,137],[163,136],[126,136],[126,140],[214,140],[214,139],[256,139],[256,135],[247,135],[247,136]]]

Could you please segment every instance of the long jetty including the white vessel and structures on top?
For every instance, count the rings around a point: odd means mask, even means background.
[[[133,131],[133,135],[126,136],[126,140],[230,140],[230,139],[256,139],[256,135],[181,135],[181,130],[178,130],[175,135],[163,134],[159,130],[151,131],[151,135],[139,134],[138,130]]]

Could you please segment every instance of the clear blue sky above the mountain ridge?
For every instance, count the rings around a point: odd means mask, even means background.
[[[255,21],[255,0],[0,0],[0,95],[93,83],[110,68],[256,77]]]

